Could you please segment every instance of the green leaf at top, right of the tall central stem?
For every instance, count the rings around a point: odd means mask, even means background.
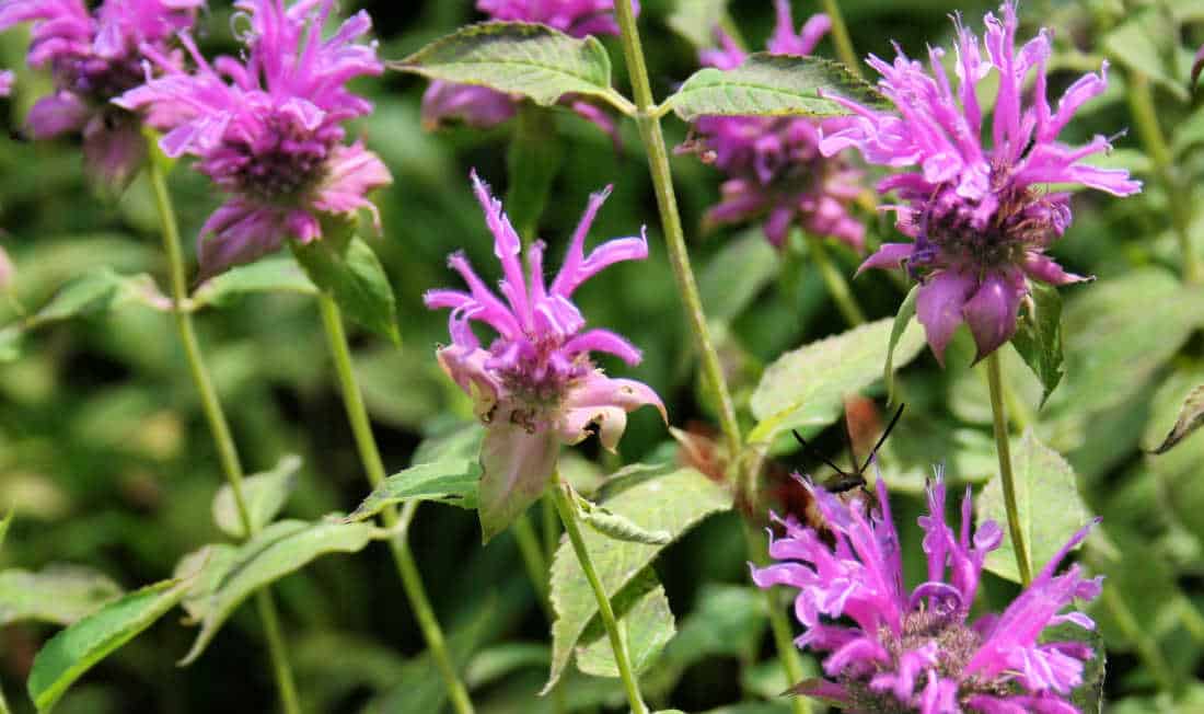
[[[870,108],[891,110],[872,84],[858,79],[839,63],[766,52],[750,54],[732,70],[698,70],[665,100],[661,108],[672,108],[686,122],[704,116],[837,117],[851,113],[832,99],[820,96],[821,92]]]

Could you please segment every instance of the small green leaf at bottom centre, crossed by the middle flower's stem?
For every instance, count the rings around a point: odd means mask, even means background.
[[[636,674],[647,672],[675,633],[665,586],[656,579],[656,572],[647,567],[610,598],[610,604],[625,635],[632,669]],[[594,677],[619,677],[614,650],[598,618],[578,641],[577,668]]]

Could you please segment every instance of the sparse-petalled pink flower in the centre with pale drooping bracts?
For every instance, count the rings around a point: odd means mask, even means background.
[[[595,366],[592,352],[615,355],[628,365],[639,364],[641,354],[614,332],[586,330],[585,318],[572,302],[573,291],[602,269],[648,256],[643,236],[615,238],[585,254],[585,236],[609,189],[590,196],[560,272],[549,285],[544,282],[544,243],[536,241],[527,247],[524,275],[521,243],[501,201],[476,173],[472,183],[502,264],[502,297],[477,277],[462,253],[455,253],[448,264],[468,291],[431,290],[425,302],[432,309],[452,311],[452,344],[438,350],[439,365],[472,396],[478,417],[488,425],[480,482],[480,517],[488,538],[539,497],[555,468],[560,443],[579,443],[595,426],[602,445],[614,450],[626,429],[627,412],[651,405],[662,418],[666,414],[648,385],[613,379]],[[497,334],[488,348],[473,332],[473,321]]]

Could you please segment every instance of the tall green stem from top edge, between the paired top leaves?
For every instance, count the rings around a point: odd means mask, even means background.
[[[715,346],[710,341],[707,315],[702,311],[698,285],[694,278],[694,270],[690,267],[690,254],[685,247],[681,216],[678,213],[673,177],[669,172],[668,152],[665,148],[661,122],[656,116],[651,84],[648,82],[648,66],[644,63],[644,51],[639,42],[639,30],[636,28],[636,18],[631,11],[631,0],[619,0],[614,7],[619,28],[622,31],[622,53],[627,60],[627,71],[631,75],[632,90],[636,95],[636,124],[639,126],[639,136],[648,152],[648,169],[656,190],[656,205],[660,208],[661,225],[665,229],[665,240],[668,244],[669,262],[673,265],[673,276],[677,278],[678,290],[681,293],[681,300],[690,319],[690,328],[694,331],[707,385],[719,402],[720,426],[727,441],[728,453],[734,461],[743,443],[740,426],[736,420],[736,407],[732,403],[731,391],[727,389],[727,379],[724,377],[719,353],[715,352]]]

